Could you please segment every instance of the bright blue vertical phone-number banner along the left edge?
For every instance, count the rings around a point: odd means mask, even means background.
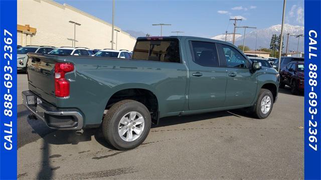
[[[0,179],[17,179],[17,1],[0,1]]]

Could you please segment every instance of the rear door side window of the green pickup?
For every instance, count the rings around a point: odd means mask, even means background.
[[[216,45],[192,41],[193,61],[201,66],[219,66]]]

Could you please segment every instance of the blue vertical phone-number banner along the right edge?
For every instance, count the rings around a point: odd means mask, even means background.
[[[321,179],[321,1],[304,8],[304,178]]]

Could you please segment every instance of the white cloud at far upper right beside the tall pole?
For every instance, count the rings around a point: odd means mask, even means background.
[[[301,6],[293,5],[285,16],[287,24],[304,25],[304,9]]]

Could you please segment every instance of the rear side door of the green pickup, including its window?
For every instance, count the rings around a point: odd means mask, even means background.
[[[220,67],[215,43],[200,39],[187,41],[189,58],[189,109],[221,107],[225,101],[226,67]]]

